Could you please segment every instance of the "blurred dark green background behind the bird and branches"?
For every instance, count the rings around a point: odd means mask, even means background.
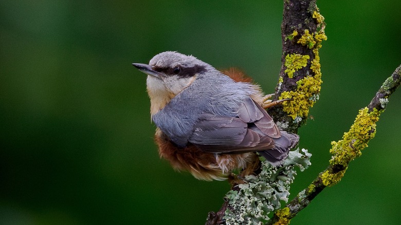
[[[401,64],[401,2],[318,1],[323,86],[300,130],[313,154],[291,193],[328,164],[332,140]],[[0,224],[204,224],[229,190],[160,160],[145,75],[177,50],[236,66],[274,92],[280,1],[2,1]],[[401,90],[342,181],[291,224],[401,224]]]

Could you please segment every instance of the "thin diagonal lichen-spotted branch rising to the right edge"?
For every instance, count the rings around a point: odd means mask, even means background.
[[[383,83],[370,104],[359,110],[354,124],[349,132],[344,133],[342,140],[332,142],[330,153],[333,157],[329,167],[283,209],[276,211],[268,224],[288,224],[291,218],[307,207],[326,186],[333,186],[341,180],[349,163],[361,155],[361,150],[367,147],[368,142],[375,136],[376,122],[386,109],[389,97],[400,84],[401,65]]]

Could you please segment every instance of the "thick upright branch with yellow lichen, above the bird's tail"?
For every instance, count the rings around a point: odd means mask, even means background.
[[[293,99],[271,107],[270,116],[282,130],[297,133],[306,121],[309,107],[319,99],[321,72],[319,48],[326,40],[324,17],[316,0],[284,1],[281,39],[281,71],[274,100]]]

